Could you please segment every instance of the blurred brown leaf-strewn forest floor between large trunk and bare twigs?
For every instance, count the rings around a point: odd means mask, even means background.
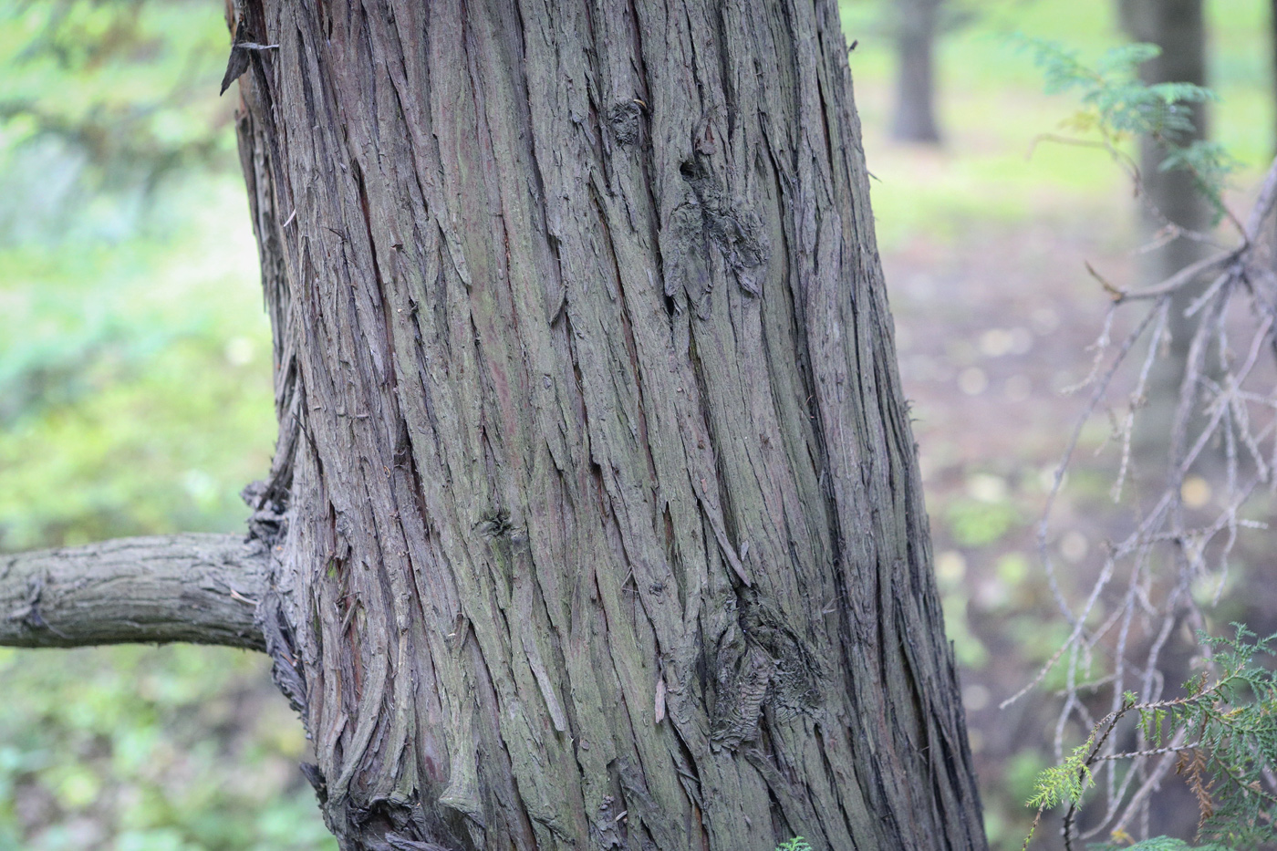
[[[976,227],[959,241],[919,235],[882,256],[946,629],[962,667],[995,847],[1018,847],[1032,816],[1023,801],[1036,772],[1052,760],[1060,702],[1050,689],[1037,689],[1006,709],[999,704],[1036,676],[1068,632],[1047,585],[1038,524],[1091,395],[1091,387],[1064,388],[1091,371],[1091,348],[1110,304],[1084,263],[1119,285],[1137,282],[1134,229],[1116,230],[1131,238],[1128,247],[1116,244],[1125,240],[1115,240],[1111,226],[1092,220],[1071,231]],[[1139,310],[1131,308],[1126,325],[1142,316]],[[1122,325],[1120,317],[1117,327]],[[1111,394],[1082,428],[1045,537],[1074,611],[1103,566],[1107,543],[1131,529],[1128,501],[1116,505],[1110,496],[1120,448],[1110,440],[1107,411],[1120,414],[1125,404],[1124,395]],[[1194,496],[1209,500],[1209,484],[1199,487],[1205,493]],[[1217,634],[1227,632],[1232,621],[1260,635],[1277,630],[1277,590],[1264,580],[1271,575],[1267,534],[1250,532],[1239,542],[1223,604],[1211,618]],[[1106,597],[1101,604],[1117,601]],[[1188,648],[1189,638],[1184,631],[1175,640]],[[1057,677],[1046,682],[1059,686]],[[1070,727],[1065,747],[1084,737]],[[1179,823],[1161,829],[1190,834],[1195,806],[1189,802],[1180,815]],[[1048,847],[1054,831],[1048,833],[1034,847]]]

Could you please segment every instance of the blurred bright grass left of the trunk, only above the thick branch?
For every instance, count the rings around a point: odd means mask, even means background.
[[[180,230],[0,252],[0,547],[226,530],[269,465],[269,327],[243,189],[203,178]],[[227,226],[230,224],[231,226]]]

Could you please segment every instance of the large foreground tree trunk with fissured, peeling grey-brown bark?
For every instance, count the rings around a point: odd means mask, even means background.
[[[835,4],[236,12],[342,847],[983,848]]]

